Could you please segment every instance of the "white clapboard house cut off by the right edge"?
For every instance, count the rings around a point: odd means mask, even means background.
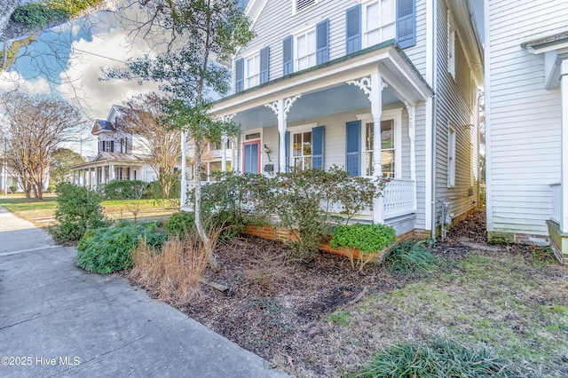
[[[487,231],[568,258],[568,4],[485,0]],[[547,225],[548,224],[548,225]]]

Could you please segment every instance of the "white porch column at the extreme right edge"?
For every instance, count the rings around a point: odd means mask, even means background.
[[[562,163],[560,177],[560,192],[562,193],[562,217],[560,230],[568,232],[568,58],[560,63],[560,91],[562,93]]]

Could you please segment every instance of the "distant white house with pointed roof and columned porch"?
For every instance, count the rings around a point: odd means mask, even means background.
[[[98,154],[92,161],[72,167],[73,184],[96,188],[111,180],[156,180],[146,156],[136,150],[136,140],[121,130],[120,108],[113,105],[106,120],[95,121],[91,134],[98,137]]]

